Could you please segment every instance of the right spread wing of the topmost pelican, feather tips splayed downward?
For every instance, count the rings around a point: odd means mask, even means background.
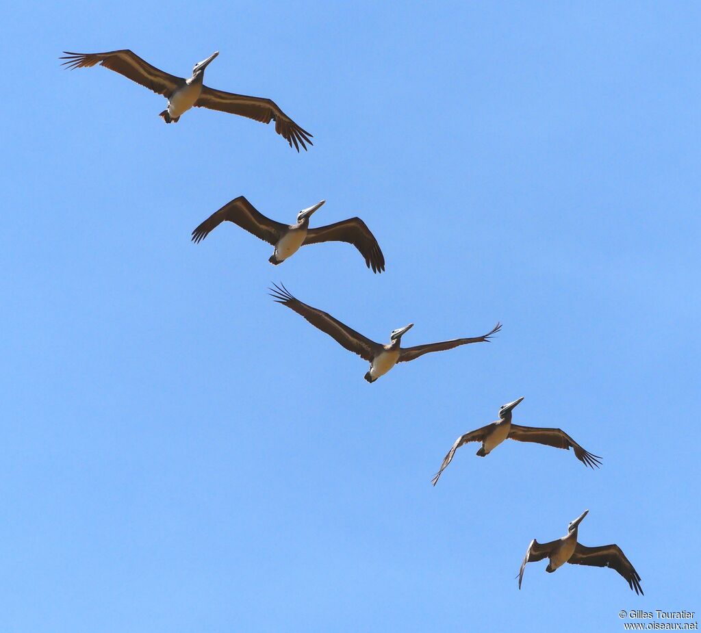
[[[209,108],[210,110],[247,116],[261,123],[275,121],[275,132],[278,132],[290,144],[290,147],[294,143],[294,149],[297,149],[297,151],[299,151],[300,145],[305,150],[307,149],[306,144],[313,145],[313,142],[311,142],[313,136],[300,128],[297,123],[294,123],[278,107],[278,104],[270,99],[235,95],[234,93],[225,93],[224,90],[215,90],[214,88],[203,86],[202,94],[195,102],[195,105],[199,108]]]

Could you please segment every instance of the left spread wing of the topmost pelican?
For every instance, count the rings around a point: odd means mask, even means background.
[[[139,55],[127,49],[111,50],[109,53],[69,53],[67,50],[63,52],[65,57],[60,57],[60,59],[67,61],[63,62],[62,65],[71,70],[90,68],[95,64],[100,64],[100,66],[114,70],[127,79],[140,83],[149,90],[153,90],[154,93],[165,97],[170,97],[175,89],[185,81],[182,77],[176,77],[151,66]]]

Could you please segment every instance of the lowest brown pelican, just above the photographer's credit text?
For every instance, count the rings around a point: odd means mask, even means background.
[[[589,510],[585,510],[578,519],[575,519],[567,526],[566,536],[557,540],[551,540],[550,543],[538,543],[535,538],[531,540],[531,545],[528,546],[521,569],[519,569],[519,589],[524,577],[526,563],[534,563],[548,557],[550,558],[550,564],[545,568],[545,571],[548,573],[555,571],[565,563],[611,567],[611,569],[618,571],[627,580],[628,586],[634,592],[637,594],[643,593],[638,572],[635,571],[618,545],[585,547],[585,545],[577,543],[577,529],[582,519],[587,516],[587,512]]]

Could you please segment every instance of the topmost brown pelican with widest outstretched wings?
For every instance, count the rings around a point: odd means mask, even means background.
[[[210,110],[247,116],[261,123],[275,121],[275,132],[282,135],[290,143],[290,147],[294,143],[297,151],[299,151],[300,145],[304,149],[307,149],[307,143],[313,145],[310,140],[312,135],[294,123],[270,99],[235,95],[203,86],[205,68],[219,55],[218,50],[206,60],[195,64],[190,79],[183,79],[163,72],[142,60],[131,50],[111,50],[109,53],[69,53],[67,50],[63,52],[65,56],[60,57],[60,59],[67,60],[63,62],[63,66],[74,69],[90,68],[95,64],[100,64],[118,72],[127,79],[146,86],[154,93],[166,97],[168,107],[158,115],[163,117],[165,123],[177,123],[180,116],[193,106],[209,108]]]

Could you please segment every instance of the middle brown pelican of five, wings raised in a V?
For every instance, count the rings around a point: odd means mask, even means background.
[[[501,324],[497,323],[491,332],[487,332],[484,336],[475,336],[473,339],[453,339],[452,341],[443,341],[442,343],[427,343],[426,345],[417,345],[415,347],[400,347],[402,336],[406,334],[413,323],[393,330],[390,334],[390,342],[386,345],[375,343],[367,339],[362,334],[358,334],[354,329],[341,323],[338,319],[334,319],[332,315],[322,312],[317,308],[312,308],[307,304],[303,304],[298,299],[295,299],[292,294],[285,288],[273,284],[275,289],[271,288],[271,297],[278,302],[294,310],[297,314],[302,315],[314,327],[317,327],[322,332],[326,332],[341,346],[351,352],[355,352],[361,358],[370,363],[370,370],[365,374],[365,380],[369,383],[374,383],[380,376],[383,376],[394,367],[397,362],[406,362],[414,360],[419,356],[423,356],[429,352],[441,352],[450,350],[460,345],[468,343],[488,343],[489,337],[496,334],[501,329]]]

